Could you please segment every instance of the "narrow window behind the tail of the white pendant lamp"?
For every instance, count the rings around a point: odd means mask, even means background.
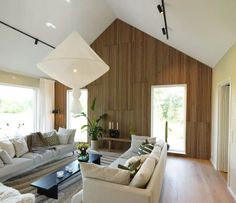
[[[76,142],[87,142],[87,132],[85,130],[81,130],[83,125],[87,124],[87,119],[84,117],[74,117],[71,113],[71,105],[72,105],[72,90],[67,91],[67,127],[70,129],[76,129],[75,141]],[[87,102],[88,102],[88,90],[82,89],[80,102],[82,105],[82,112],[87,114]]]

